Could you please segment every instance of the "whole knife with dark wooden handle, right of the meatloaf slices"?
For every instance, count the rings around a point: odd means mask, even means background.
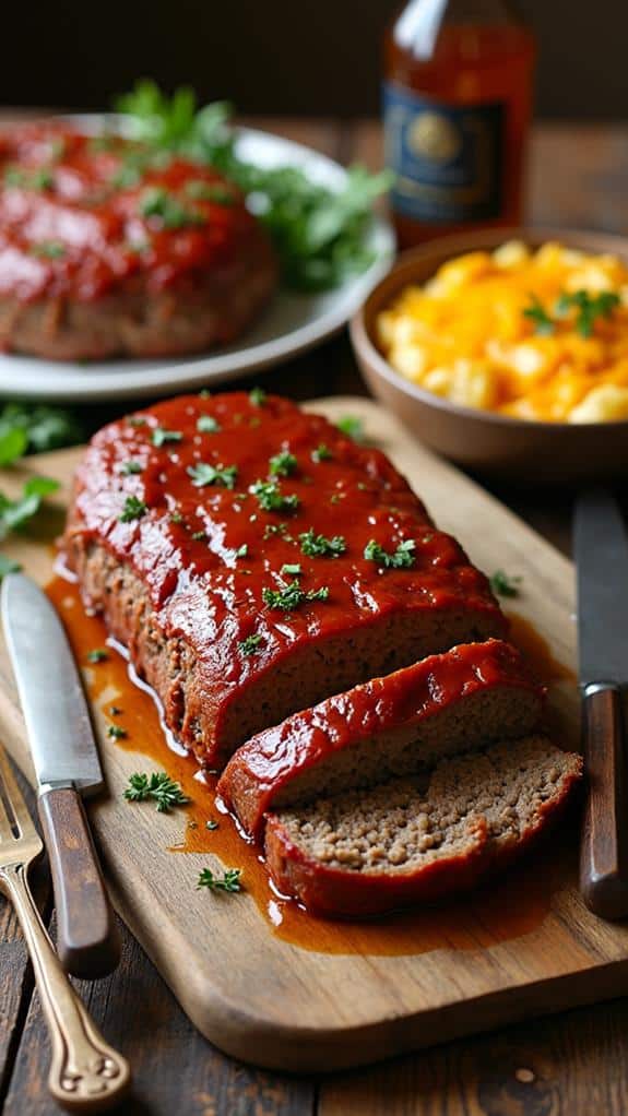
[[[601,489],[576,506],[582,743],[589,790],[580,891],[602,918],[628,915],[628,537],[616,500]]]

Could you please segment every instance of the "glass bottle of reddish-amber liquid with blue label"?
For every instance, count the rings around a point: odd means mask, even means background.
[[[410,0],[385,39],[399,246],[522,212],[535,41],[502,0]]]

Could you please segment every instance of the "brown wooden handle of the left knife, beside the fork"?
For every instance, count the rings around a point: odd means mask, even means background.
[[[119,939],[80,795],[73,787],[39,797],[52,873],[57,952],[73,977],[95,980],[119,960]]]

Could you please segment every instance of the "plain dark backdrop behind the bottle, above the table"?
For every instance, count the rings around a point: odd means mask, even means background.
[[[0,104],[103,108],[148,75],[241,113],[368,116],[398,0],[6,0]],[[521,0],[538,113],[628,116],[628,0]]]

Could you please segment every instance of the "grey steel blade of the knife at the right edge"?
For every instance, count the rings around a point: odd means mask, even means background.
[[[580,685],[628,683],[628,536],[617,501],[590,489],[576,504]]]

